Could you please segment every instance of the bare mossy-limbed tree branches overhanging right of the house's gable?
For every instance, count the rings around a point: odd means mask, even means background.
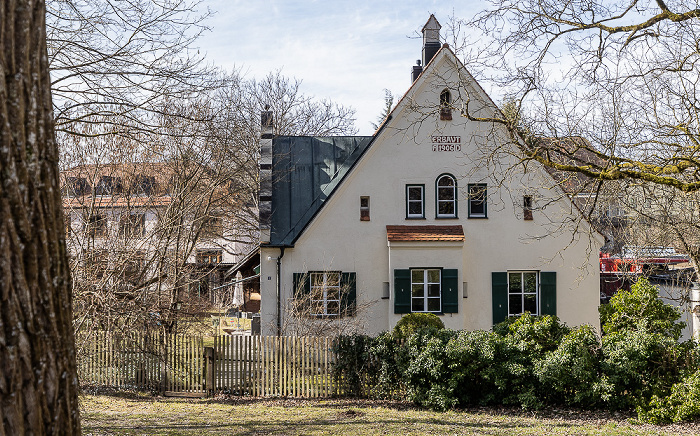
[[[556,141],[527,143],[528,158],[597,180],[695,191],[699,10],[661,0],[495,0],[457,27],[483,32],[483,45],[461,47],[466,63],[506,90],[534,134],[584,137],[598,160],[580,160]],[[520,140],[514,118],[479,116],[475,103],[463,105],[465,116],[504,125]]]

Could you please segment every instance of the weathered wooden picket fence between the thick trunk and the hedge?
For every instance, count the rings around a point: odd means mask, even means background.
[[[78,336],[83,385],[148,389],[169,396],[215,392],[331,397],[332,340],[316,337],[201,336],[94,332]],[[213,342],[213,343],[212,343]]]

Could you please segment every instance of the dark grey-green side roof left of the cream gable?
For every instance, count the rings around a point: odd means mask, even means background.
[[[270,245],[292,245],[372,136],[276,136]]]

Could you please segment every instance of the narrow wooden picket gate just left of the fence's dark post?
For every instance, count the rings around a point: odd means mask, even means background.
[[[165,396],[204,397],[207,390],[202,337],[166,336],[161,371],[161,383],[163,383]]]

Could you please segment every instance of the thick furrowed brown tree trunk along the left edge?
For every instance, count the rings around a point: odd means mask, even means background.
[[[79,435],[45,4],[0,0],[0,435]]]

